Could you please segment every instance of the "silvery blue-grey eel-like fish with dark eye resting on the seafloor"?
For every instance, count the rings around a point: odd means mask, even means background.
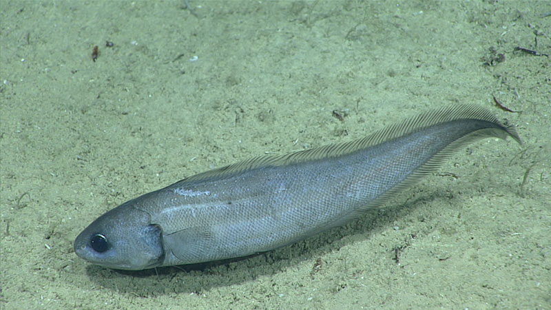
[[[240,258],[382,207],[481,138],[521,138],[475,104],[428,111],[354,141],[265,155],[129,200],[74,240],[83,260],[143,270]]]

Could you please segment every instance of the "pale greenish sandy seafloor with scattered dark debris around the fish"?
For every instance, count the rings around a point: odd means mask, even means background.
[[[551,309],[551,59],[514,51],[551,55],[550,2],[189,4],[0,2],[0,308]],[[479,141],[383,209],[245,260],[157,275],[74,255],[140,194],[458,103],[525,145]]]

